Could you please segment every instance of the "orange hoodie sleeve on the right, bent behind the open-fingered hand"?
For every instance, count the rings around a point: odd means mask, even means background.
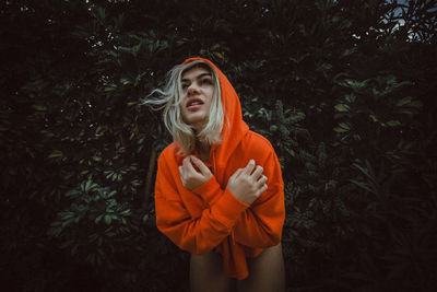
[[[249,247],[265,248],[281,241],[285,202],[281,166],[272,148],[261,165],[268,177],[268,190],[238,220],[234,229],[234,238]]]

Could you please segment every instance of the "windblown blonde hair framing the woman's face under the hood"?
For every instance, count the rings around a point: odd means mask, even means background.
[[[193,128],[186,124],[180,113],[181,97],[184,96],[181,78],[185,72],[193,68],[204,68],[212,77],[214,92],[210,108],[210,115],[205,127],[198,133]],[[149,98],[154,94],[161,96]],[[172,133],[173,140],[180,148],[179,153],[190,154],[196,148],[196,141],[209,144],[222,142],[221,132],[224,124],[224,113],[221,98],[218,75],[210,65],[202,60],[177,65],[167,73],[165,90],[155,89],[142,102],[143,105],[151,105],[153,109],[163,109],[165,127]]]

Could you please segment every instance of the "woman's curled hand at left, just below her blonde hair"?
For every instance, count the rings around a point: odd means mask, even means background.
[[[197,166],[200,172],[197,171],[194,166]],[[192,155],[184,160],[182,165],[179,166],[179,174],[182,185],[189,190],[200,187],[212,177],[210,168],[208,168],[201,160]]]

